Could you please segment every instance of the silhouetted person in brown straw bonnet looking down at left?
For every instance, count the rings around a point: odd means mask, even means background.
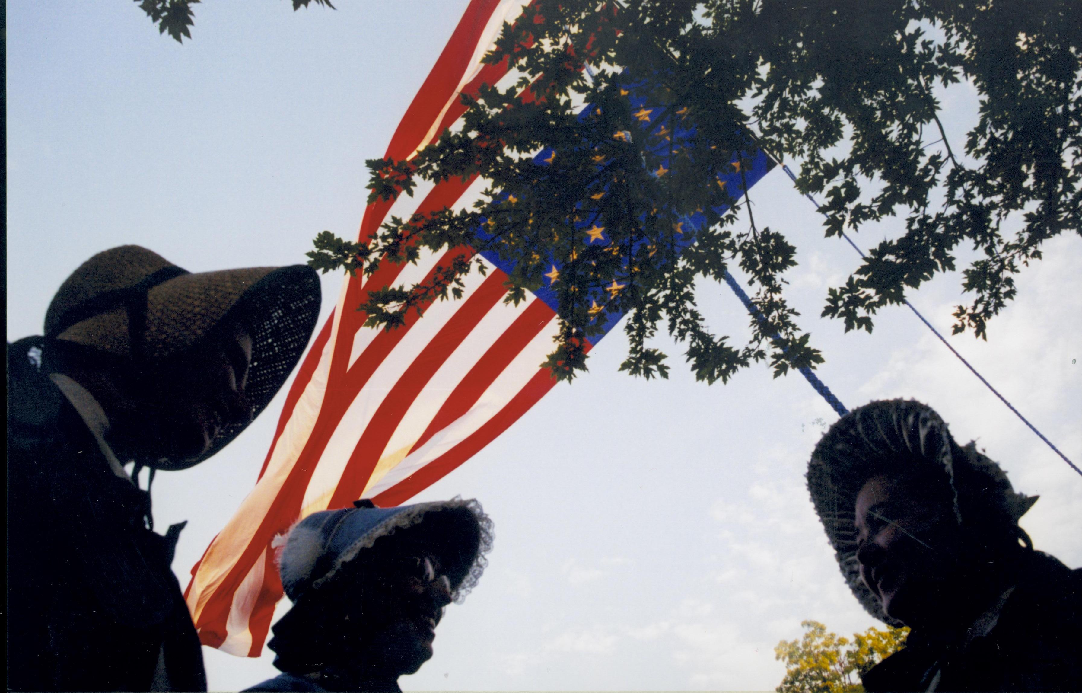
[[[232,441],[318,311],[309,267],[190,274],[122,246],[64,282],[44,337],[8,345],[10,690],[206,690],[170,566],[183,523],[153,531],[138,471],[149,487]]]

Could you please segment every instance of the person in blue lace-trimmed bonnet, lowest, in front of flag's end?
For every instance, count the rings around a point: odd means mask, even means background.
[[[269,648],[280,676],[249,691],[400,691],[432,657],[444,607],[485,567],[492,524],[475,500],[308,515],[279,560],[293,606]]]

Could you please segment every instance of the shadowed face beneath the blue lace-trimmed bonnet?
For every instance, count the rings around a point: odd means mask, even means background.
[[[424,552],[406,552],[366,571],[358,644],[374,669],[394,677],[413,674],[432,658],[436,626],[451,602],[451,584]]]

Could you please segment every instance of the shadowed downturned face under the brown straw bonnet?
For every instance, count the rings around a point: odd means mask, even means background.
[[[251,420],[251,335],[229,321],[194,349],[141,370],[110,411],[120,447],[175,467],[201,457],[222,428]]]

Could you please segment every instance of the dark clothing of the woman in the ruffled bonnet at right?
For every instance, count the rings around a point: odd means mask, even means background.
[[[936,691],[1082,691],[1082,570],[1032,552],[999,613],[956,642],[912,631],[863,676],[865,689],[927,691],[938,676]]]

